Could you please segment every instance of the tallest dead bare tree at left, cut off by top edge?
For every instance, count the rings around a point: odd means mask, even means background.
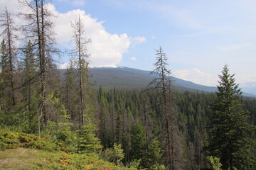
[[[48,66],[52,65],[48,62],[53,61],[53,55],[58,54],[55,47],[54,31],[53,31],[53,13],[46,8],[46,0],[19,0],[20,4],[25,8],[25,12],[20,13],[25,19],[25,24],[21,26],[25,39],[31,40],[32,47],[35,49],[39,61],[39,76],[41,84],[41,101],[38,109],[42,112],[43,126],[50,117],[46,111],[47,100],[47,74]],[[37,75],[35,75],[37,76]]]

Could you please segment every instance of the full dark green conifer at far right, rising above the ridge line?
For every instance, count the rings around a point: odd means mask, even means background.
[[[242,109],[242,92],[235,84],[234,74],[229,74],[227,64],[219,78],[216,99],[211,107],[214,112],[210,125],[210,154],[220,158],[224,170],[250,169],[255,163],[250,139],[255,128],[247,122],[249,112]]]

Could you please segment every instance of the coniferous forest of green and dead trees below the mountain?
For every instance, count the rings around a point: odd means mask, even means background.
[[[255,169],[256,99],[242,96],[227,64],[215,93],[176,91],[159,47],[147,87],[96,88],[80,16],[61,76],[46,1],[20,4],[23,26],[8,8],[0,19],[1,169],[17,148],[49,157],[25,169]]]

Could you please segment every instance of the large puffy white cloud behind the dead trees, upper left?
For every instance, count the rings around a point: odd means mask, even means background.
[[[79,3],[79,0],[73,1],[73,3]],[[18,12],[18,9],[20,9],[16,0],[1,0],[1,11],[4,10],[5,5],[12,9],[11,12]],[[53,4],[48,4],[48,9],[57,16],[53,18],[53,22],[58,45],[69,49],[72,49],[73,46],[71,22],[74,22],[80,16],[85,25],[86,38],[92,40],[92,43],[88,45],[90,67],[114,67],[121,62],[122,55],[128,51],[131,44],[139,44],[146,40],[146,38],[140,36],[129,37],[126,33],[121,35],[108,33],[103,26],[103,21],[97,21],[97,18],[92,18],[90,14],[80,9],[60,13]],[[19,19],[19,21],[21,20]],[[18,24],[20,25],[20,23]]]

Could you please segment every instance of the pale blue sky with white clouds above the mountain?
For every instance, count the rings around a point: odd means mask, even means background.
[[[4,6],[21,10],[17,0],[1,0]],[[152,70],[161,46],[174,77],[216,86],[228,64],[240,86],[256,89],[255,0],[52,0],[48,8],[62,50],[72,48],[70,22],[80,15],[91,67]],[[63,54],[59,67],[68,60]]]

